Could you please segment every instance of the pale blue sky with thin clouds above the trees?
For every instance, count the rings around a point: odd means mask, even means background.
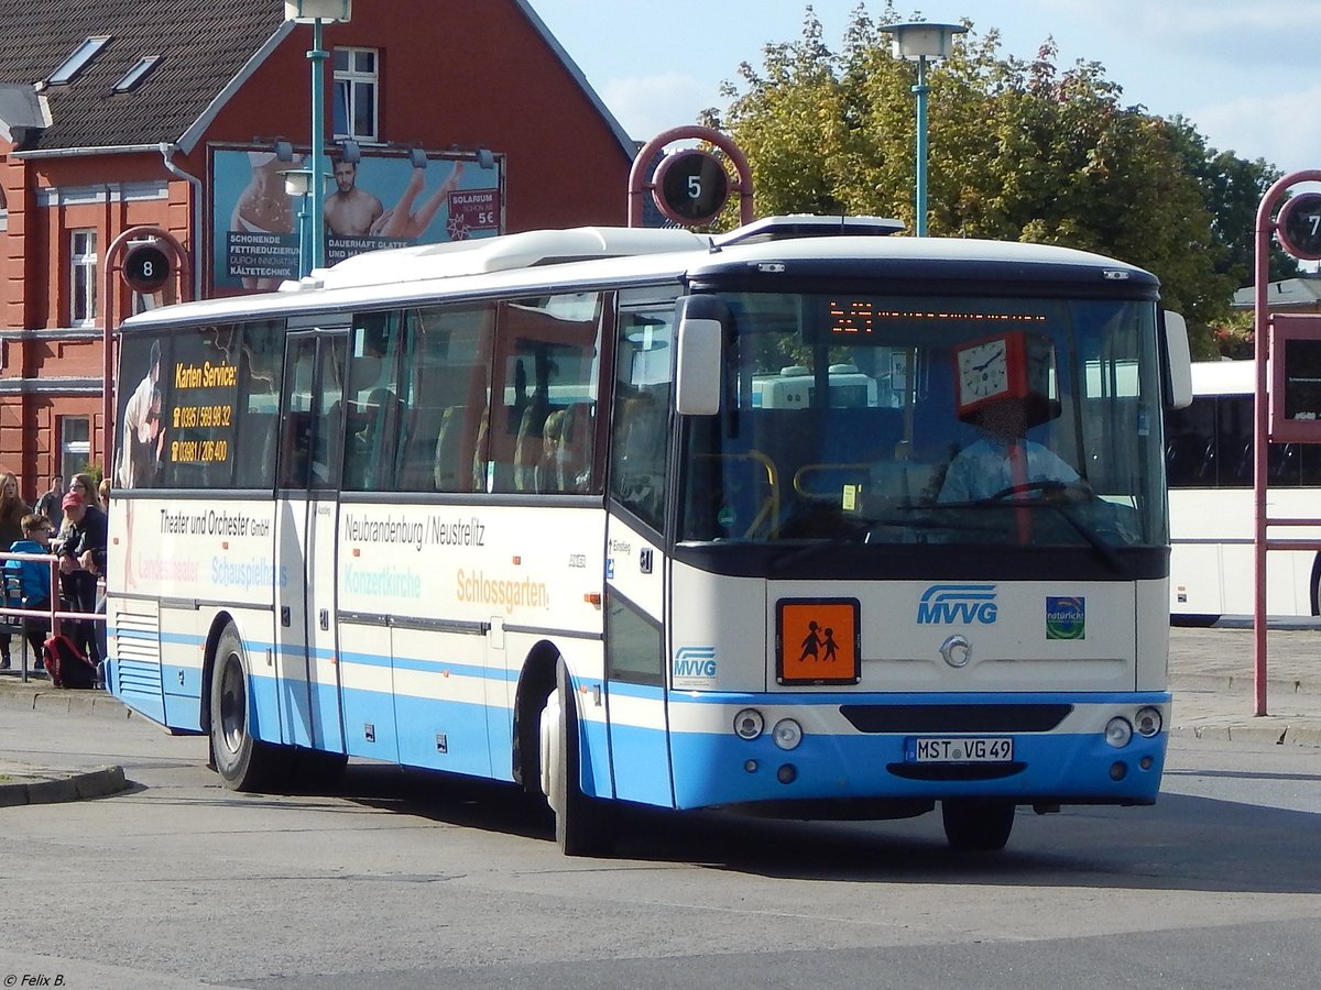
[[[528,0],[630,137],[724,107],[738,65],[802,37],[806,0]],[[841,48],[859,0],[812,0]],[[865,0],[880,15],[884,0]],[[1124,106],[1181,114],[1207,143],[1284,173],[1321,169],[1321,0],[897,0],[904,20],[972,21],[1000,55],[1100,62]]]

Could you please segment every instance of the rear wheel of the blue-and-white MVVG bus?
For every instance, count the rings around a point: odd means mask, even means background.
[[[211,667],[211,754],[231,791],[266,791],[287,779],[292,750],[252,738],[243,640],[226,626]]]

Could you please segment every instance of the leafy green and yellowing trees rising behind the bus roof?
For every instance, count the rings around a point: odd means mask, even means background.
[[[721,128],[746,153],[757,213],[875,214],[913,226],[913,63],[890,54],[860,5],[832,51],[808,7],[802,40],[764,49],[765,65],[727,83]],[[914,18],[919,20],[919,17]],[[1201,352],[1248,272],[1256,201],[1277,176],[1206,147],[1182,119],[1124,106],[1096,62],[1061,69],[1046,41],[1026,62],[1000,55],[972,25],[929,65],[927,206],[933,236],[1061,244],[1111,255],[1161,280]],[[1254,215],[1247,215],[1251,206]],[[737,222],[734,210],[723,218]]]

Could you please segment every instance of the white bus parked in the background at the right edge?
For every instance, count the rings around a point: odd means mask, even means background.
[[[1165,421],[1169,479],[1170,618],[1176,624],[1250,622],[1255,601],[1252,539],[1255,360],[1196,362],[1193,401]],[[1267,506],[1272,519],[1314,519],[1321,449],[1271,444]],[[1277,535],[1277,533],[1276,533]],[[1291,537],[1318,537],[1295,528]],[[1321,554],[1272,550],[1266,557],[1266,611],[1275,622],[1321,614]]]

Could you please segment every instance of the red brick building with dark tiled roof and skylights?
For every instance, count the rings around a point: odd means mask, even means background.
[[[305,168],[310,149],[312,28],[284,15],[283,0],[0,7],[0,467],[26,500],[107,461],[107,315],[296,273],[300,203],[281,186],[275,219],[244,210],[259,172]],[[366,193],[326,228],[329,261],[625,222],[634,144],[528,0],[358,0],[324,45],[326,153],[361,156]],[[122,260],[107,248],[140,224],[189,268],[153,296],[107,279]]]

